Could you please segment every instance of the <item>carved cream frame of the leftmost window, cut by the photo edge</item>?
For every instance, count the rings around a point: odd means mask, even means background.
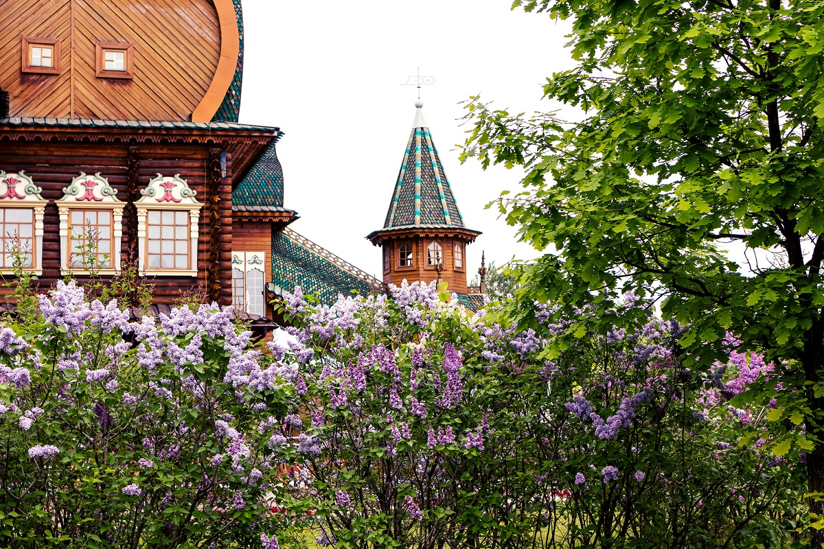
[[[16,174],[7,174],[0,170],[0,208],[2,209],[26,209],[33,212],[32,241],[34,243],[32,253],[32,265],[23,268],[27,272],[36,275],[43,274],[43,214],[48,200],[40,196],[42,188],[35,185],[34,181],[21,170]],[[6,235],[2,235],[5,244]],[[14,269],[0,268],[0,274],[13,274]]]

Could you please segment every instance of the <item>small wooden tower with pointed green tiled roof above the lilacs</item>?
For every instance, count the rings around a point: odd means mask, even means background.
[[[475,241],[480,231],[464,226],[424,120],[424,104],[418,100],[415,107],[386,222],[367,238],[383,249],[386,284],[440,279],[449,291],[466,295],[466,244]]]

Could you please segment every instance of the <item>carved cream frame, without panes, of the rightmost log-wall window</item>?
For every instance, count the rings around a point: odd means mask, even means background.
[[[174,177],[165,177],[157,174],[149,181],[146,188],[141,189],[141,197],[134,202],[138,211],[138,258],[140,271],[143,275],[158,277],[197,277],[198,276],[198,228],[200,210],[204,205],[194,199],[195,191],[189,188],[185,179],[176,174]],[[179,268],[148,268],[147,253],[147,216],[148,212],[189,212],[189,267]]]

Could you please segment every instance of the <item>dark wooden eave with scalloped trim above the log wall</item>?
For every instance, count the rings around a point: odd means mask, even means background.
[[[0,120],[0,142],[192,143],[223,147],[232,158],[232,187],[255,165],[279,128],[232,127],[230,123],[146,122],[136,120]]]

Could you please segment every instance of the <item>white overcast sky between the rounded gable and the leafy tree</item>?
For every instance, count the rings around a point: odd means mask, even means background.
[[[532,258],[515,230],[485,210],[520,174],[461,165],[466,128],[457,103],[480,93],[512,111],[548,109],[541,83],[572,65],[567,26],[511,12],[508,0],[244,0],[241,122],[279,126],[285,206],[292,228],[381,277],[380,250],[364,237],[386,217],[414,119],[416,67],[424,114],[466,226],[483,231],[467,248],[470,276],[487,261]]]

